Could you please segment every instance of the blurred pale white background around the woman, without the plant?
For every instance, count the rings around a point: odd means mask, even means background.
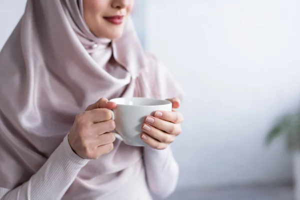
[[[293,199],[296,153],[284,135],[270,146],[265,137],[299,108],[300,1],[135,2],[142,45],[186,92],[183,132],[172,144],[180,177],[169,199]],[[0,48],[24,5],[0,0]]]

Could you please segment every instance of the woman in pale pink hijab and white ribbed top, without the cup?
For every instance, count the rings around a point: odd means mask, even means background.
[[[168,144],[181,131],[179,112],[145,117],[145,147],[109,133],[116,105],[107,98],[181,95],[143,52],[132,5],[27,1],[0,53],[0,198],[131,200],[174,190],[178,166]]]

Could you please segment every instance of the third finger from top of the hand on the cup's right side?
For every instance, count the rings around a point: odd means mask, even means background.
[[[152,138],[157,139],[160,142],[171,143],[175,140],[175,135],[163,132],[148,124],[143,124],[142,129],[145,133],[147,133]]]

